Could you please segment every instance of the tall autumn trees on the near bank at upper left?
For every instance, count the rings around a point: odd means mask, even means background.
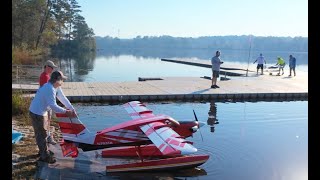
[[[95,51],[94,32],[80,12],[76,0],[12,0],[13,60],[21,52],[53,55]]]

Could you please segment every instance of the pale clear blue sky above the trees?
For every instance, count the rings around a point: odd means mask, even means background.
[[[96,36],[308,37],[308,0],[77,0]]]

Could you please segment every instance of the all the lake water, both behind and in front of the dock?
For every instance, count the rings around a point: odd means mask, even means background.
[[[210,68],[161,61],[167,59],[208,60],[209,50],[113,50],[96,57],[61,60],[68,81],[122,82],[138,77],[211,76]],[[223,67],[256,67],[260,52],[222,50]],[[288,62],[291,52],[262,52],[267,65],[276,57]],[[308,53],[292,53],[297,58],[297,75],[308,73]],[[288,66],[286,67],[288,68]],[[285,69],[288,72],[288,69]],[[155,114],[177,120],[193,120],[192,110],[206,125],[189,140],[200,153],[210,155],[199,168],[162,173],[129,173],[114,179],[308,179],[308,101],[289,102],[204,102],[149,103]],[[98,131],[130,117],[121,105],[76,105],[80,119],[91,131]],[[209,118],[210,116],[210,118]],[[216,117],[215,119],[212,117]],[[219,122],[219,124],[214,124]]]

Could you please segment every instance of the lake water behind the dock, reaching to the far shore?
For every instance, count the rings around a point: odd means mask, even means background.
[[[209,50],[168,50],[168,51],[99,51],[96,57],[82,57],[81,59],[62,59],[60,64],[63,72],[69,77],[67,81],[75,82],[123,82],[138,81],[139,77],[203,77],[211,76],[211,69],[196,67],[191,65],[177,64],[161,61],[167,59],[192,59],[209,60],[215,52]],[[308,72],[307,52],[263,52],[267,61],[267,66],[276,64],[276,57],[282,56],[287,64],[289,54],[293,54],[297,59],[297,74]],[[232,68],[253,68],[256,56],[260,52],[236,50],[222,50],[221,59],[224,61],[222,67]],[[249,66],[248,66],[248,59]],[[285,67],[288,72],[289,67]]]

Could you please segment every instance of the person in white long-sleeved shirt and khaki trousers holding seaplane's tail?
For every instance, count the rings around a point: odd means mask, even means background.
[[[74,113],[74,107],[61,89],[63,80],[66,78],[61,71],[54,71],[51,74],[49,82],[38,89],[29,107],[29,114],[32,119],[32,126],[40,152],[40,161],[48,163],[56,162],[53,153],[48,150],[46,140],[47,133],[44,122],[45,118],[48,117],[48,110],[52,109],[55,113],[66,113],[68,116],[72,116]],[[56,98],[59,99],[65,108],[57,104]]]

